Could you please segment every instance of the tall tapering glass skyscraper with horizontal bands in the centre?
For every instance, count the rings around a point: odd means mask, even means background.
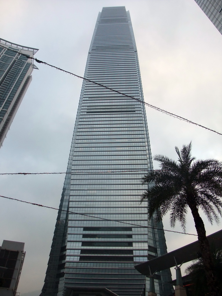
[[[99,13],[85,78],[143,101],[125,7]],[[144,104],[83,81],[41,295],[69,295],[74,287],[144,295],[145,277],[134,265],[166,252],[163,230],[152,228],[139,202],[146,189],[141,177],[151,169]],[[169,280],[169,272],[157,274],[156,292],[172,295]]]

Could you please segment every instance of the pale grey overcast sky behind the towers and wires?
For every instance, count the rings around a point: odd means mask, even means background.
[[[145,102],[222,132],[222,36],[194,0],[1,0],[0,38],[38,48],[37,59],[83,76],[99,11],[124,5],[131,15]],[[0,149],[0,173],[66,171],[82,81],[36,65],[39,70],[33,70]],[[176,158],[174,147],[192,141],[197,159],[222,160],[222,136],[150,108],[146,112],[152,155]],[[64,178],[0,176],[0,194],[58,207]],[[0,202],[0,245],[3,239],[25,242],[17,291],[37,296],[57,211],[4,198]],[[221,229],[205,222],[207,234]],[[164,228],[170,229],[168,218]],[[179,225],[175,230],[181,231]],[[195,233],[190,217],[187,232]],[[196,240],[184,234],[165,236],[168,251]]]

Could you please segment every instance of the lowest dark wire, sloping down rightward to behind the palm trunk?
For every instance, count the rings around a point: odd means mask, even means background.
[[[139,224],[133,224],[133,223],[128,223],[128,222],[123,222],[123,221],[119,221],[119,220],[112,220],[112,219],[107,219],[107,218],[96,217],[96,216],[87,215],[87,214],[83,214],[83,213],[76,213],[76,212],[72,212],[72,211],[68,211],[68,210],[61,210],[61,209],[58,209],[58,208],[55,208],[55,207],[48,207],[46,205],[40,205],[40,204],[33,203],[33,202],[27,202],[25,200],[18,200],[16,198],[6,197],[6,196],[3,196],[3,195],[0,195],[0,197],[7,198],[9,200],[16,200],[16,201],[19,201],[19,202],[25,202],[27,204],[36,205],[38,207],[46,207],[48,209],[53,209],[53,210],[58,210],[58,211],[60,210],[60,211],[63,211],[63,212],[69,213],[69,214],[77,214],[77,215],[82,215],[82,216],[86,216],[86,217],[101,219],[101,220],[105,220],[105,221],[114,221],[114,222],[119,222],[119,223],[123,223],[123,224],[128,224],[128,225],[133,225],[133,226],[139,226],[139,227],[142,227],[142,228],[149,228],[149,229],[162,230],[162,231],[173,232],[173,233],[187,234],[187,235],[193,235],[193,236],[196,236],[197,237],[197,234],[184,233],[184,232],[180,232],[180,231],[174,231],[174,230],[168,230],[168,229],[162,229],[162,228],[155,228],[155,227],[152,227],[152,226],[144,226],[144,225],[139,225]],[[221,238],[215,238],[215,237],[209,237],[209,238],[221,239]]]

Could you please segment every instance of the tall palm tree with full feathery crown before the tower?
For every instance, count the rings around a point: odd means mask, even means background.
[[[148,217],[154,217],[159,223],[170,212],[170,226],[179,221],[185,232],[186,215],[190,208],[203,258],[210,295],[220,295],[214,274],[213,259],[206,237],[205,226],[199,210],[207,216],[209,222],[219,223],[222,216],[222,163],[218,160],[195,160],[191,156],[191,143],[179,151],[175,147],[178,161],[163,155],[156,155],[160,169],[149,172],[142,178],[142,183],[149,187],[142,194],[141,202],[148,201]]]

